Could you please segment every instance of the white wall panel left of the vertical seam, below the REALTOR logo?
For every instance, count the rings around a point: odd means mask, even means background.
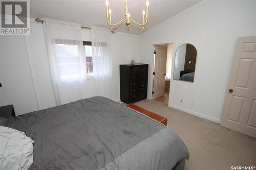
[[[13,104],[18,111],[37,109],[34,87],[23,36],[1,37],[1,104]]]

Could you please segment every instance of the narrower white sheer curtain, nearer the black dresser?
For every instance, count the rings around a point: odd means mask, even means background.
[[[110,31],[92,29],[93,72],[96,95],[111,98],[112,58]]]

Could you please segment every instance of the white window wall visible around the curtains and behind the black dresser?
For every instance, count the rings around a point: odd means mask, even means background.
[[[90,41],[90,29],[83,30]],[[30,36],[0,36],[0,106],[13,104],[16,115],[56,106],[44,28],[31,18]],[[113,82],[111,99],[120,101],[119,64],[139,62],[139,36],[111,34]],[[30,62],[29,62],[30,61]],[[94,80],[87,81],[87,97],[95,95]]]

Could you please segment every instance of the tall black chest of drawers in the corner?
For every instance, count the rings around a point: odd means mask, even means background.
[[[120,65],[120,98],[134,103],[147,97],[148,64]]]

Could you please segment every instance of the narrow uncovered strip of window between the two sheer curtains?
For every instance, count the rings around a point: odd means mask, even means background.
[[[92,55],[92,42],[82,41],[86,53],[86,68],[89,75],[93,74],[93,55]]]

